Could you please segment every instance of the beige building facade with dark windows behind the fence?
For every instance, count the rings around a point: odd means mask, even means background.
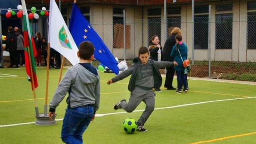
[[[191,0],[176,0],[176,3],[166,0],[167,23],[164,20],[162,1],[90,0],[89,3],[78,0],[77,3],[109,50],[121,59],[137,56],[140,46],[148,46],[152,35],[158,35],[163,46],[167,26],[167,35],[170,35],[174,27],[180,27],[183,41],[189,49],[189,58],[192,58],[194,37],[194,60],[208,60],[210,49],[211,60],[256,62],[256,0],[195,0],[194,23]],[[67,24],[72,3],[73,0],[61,0],[61,13]],[[27,4],[37,8],[46,6],[49,9],[49,0],[31,0]],[[47,18],[43,17],[33,23],[33,29],[47,36],[46,25]]]

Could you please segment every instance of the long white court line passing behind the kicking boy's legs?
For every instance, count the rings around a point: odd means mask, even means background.
[[[192,106],[192,105],[198,105],[198,104],[207,104],[207,103],[214,103],[214,102],[219,102],[219,101],[233,101],[233,100],[241,100],[241,99],[249,99],[249,98],[256,98],[256,97],[232,98],[232,99],[224,99],[224,100],[216,100],[216,101],[203,101],[203,102],[199,102],[199,103],[182,104],[182,105],[177,105],[177,106],[172,106],[172,107],[160,107],[160,108],[155,108],[154,110],[158,110],[158,109],[172,109],[172,108],[176,108],[176,107],[186,107],[186,106]],[[141,111],[144,111],[144,110],[145,109],[134,110],[133,112],[141,112]],[[96,114],[96,117],[102,117],[104,115],[116,115],[116,114],[121,114],[121,113],[127,113],[127,112],[113,112],[113,113],[105,113],[105,114]],[[62,120],[63,120],[63,118],[55,119],[55,121],[62,121]],[[0,125],[0,127],[12,127],[12,126],[18,126],[18,125],[24,125],[24,124],[35,124],[35,122]]]

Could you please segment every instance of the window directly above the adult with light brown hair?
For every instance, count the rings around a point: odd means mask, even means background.
[[[180,28],[181,23],[181,15],[180,15],[180,7],[169,7],[167,8],[167,31],[168,37],[171,35],[172,30],[175,27]]]

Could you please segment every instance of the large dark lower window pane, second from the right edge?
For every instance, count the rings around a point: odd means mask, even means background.
[[[216,14],[215,46],[216,49],[232,49],[233,14]]]

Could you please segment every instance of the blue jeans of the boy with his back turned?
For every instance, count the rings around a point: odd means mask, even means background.
[[[62,141],[66,144],[83,144],[83,133],[93,117],[90,105],[66,109],[61,130]]]

